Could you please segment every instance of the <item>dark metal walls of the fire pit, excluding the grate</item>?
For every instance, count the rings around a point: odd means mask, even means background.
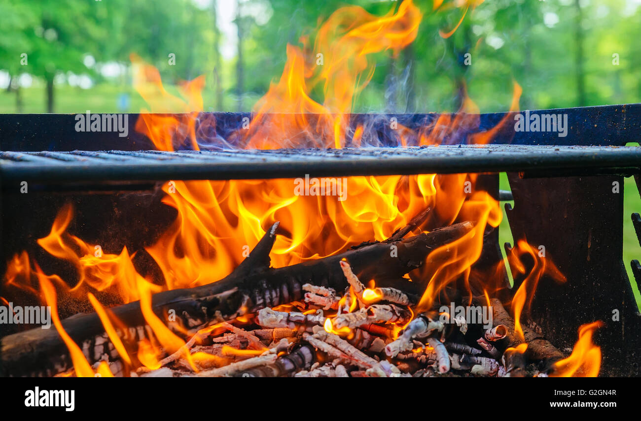
[[[513,132],[512,125],[497,134],[495,143],[518,145],[625,145],[635,141],[634,132],[627,131],[634,123],[626,120],[622,111],[640,115],[635,109],[555,110],[569,113],[569,136],[556,134]],[[225,137],[242,124],[244,114],[216,114],[215,130]],[[494,127],[504,115],[481,115],[479,131]],[[366,116],[354,116],[354,122]],[[433,121],[435,115],[397,116],[399,123],[417,128]],[[637,117],[638,119],[638,117]],[[137,134],[133,125],[137,115],[129,115],[129,135],[96,133],[91,136],[75,132],[72,115],[4,115],[0,116],[0,150],[13,151],[66,151],[66,150],[149,150],[149,140]],[[386,121],[386,118],[381,118]],[[579,123],[579,122],[585,123]],[[603,127],[590,132],[583,127],[593,121],[607,121]],[[637,122],[637,127],[640,125]],[[390,138],[390,129],[381,125],[381,138]],[[587,130],[587,129],[586,129]],[[586,135],[589,134],[589,136]],[[466,131],[449,139],[462,142]],[[590,171],[585,171],[590,173]],[[572,175],[581,173],[573,169]],[[337,174],[338,175],[338,174]],[[544,177],[542,177],[544,176]],[[641,322],[635,299],[622,261],[623,177],[621,175],[581,175],[569,177],[559,173],[537,171],[508,173],[513,195],[513,207],[506,204],[506,213],[514,239],[527,239],[530,244],[545,246],[554,263],[567,276],[568,282],[556,283],[544,276],[537,289],[529,323],[540,329],[553,344],[564,352],[576,342],[581,324],[601,320],[606,326],[598,331],[595,342],[603,353],[602,375],[639,376],[641,368]],[[638,180],[638,177],[637,177]],[[613,193],[618,182],[620,193]],[[85,241],[101,244],[104,251],[118,253],[123,246],[131,251],[144,250],[171,224],[176,211],[160,203],[163,196],[154,182],[136,180],[114,182],[106,175],[103,182],[85,182],[83,179],[63,184],[29,184],[29,193],[21,194],[15,183],[3,182],[1,196],[2,259],[0,270],[15,253],[26,250],[46,273],[57,273],[69,283],[76,282],[76,269],[52,257],[37,245],[36,240],[49,234],[54,216],[64,203],[74,203],[76,209],[69,231]],[[499,197],[497,174],[479,177],[478,189],[485,189]],[[487,232],[481,258],[474,271],[483,273],[501,260],[498,230]],[[510,244],[505,245],[509,250]],[[139,251],[135,266],[143,275],[160,276],[153,260],[145,251]],[[504,282],[508,282],[504,272]],[[522,278],[514,279],[518,287]],[[640,281],[640,280],[637,280]],[[515,290],[515,289],[513,289]],[[24,303],[32,299],[24,296]],[[71,305],[60,308],[61,317],[89,311]],[[617,317],[615,317],[618,315]],[[8,326],[0,326],[0,335],[12,333]]]

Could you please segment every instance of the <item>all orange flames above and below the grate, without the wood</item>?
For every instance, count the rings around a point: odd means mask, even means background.
[[[435,2],[435,9],[441,8],[441,3]],[[482,0],[458,1],[456,5],[464,7],[464,17],[470,7],[475,8],[480,3]],[[308,38],[301,38],[301,46],[287,46],[283,73],[254,106],[249,127],[232,134],[229,139],[215,139],[215,146],[237,149],[379,146],[379,140],[368,136],[362,126],[350,132],[349,118],[354,99],[374,74],[372,54],[388,50],[397,54],[415,40],[421,19],[422,13],[412,0],[403,1],[397,10],[383,17],[371,15],[358,6],[338,9],[320,26],[313,44]],[[446,35],[451,35],[456,28]],[[318,65],[317,60],[322,60],[322,65]],[[182,83],[181,98],[178,98],[163,88],[156,68],[135,55],[131,56],[131,61],[135,88],[150,107],[141,113],[137,131],[151,139],[158,150],[199,150],[208,146],[199,144],[202,139],[197,136],[197,127],[203,129],[203,125],[209,124],[215,129],[212,118],[206,122],[200,119],[204,77]],[[320,88],[324,99],[316,102],[311,93]],[[518,110],[520,93],[520,86],[515,84],[510,111]],[[182,114],[170,114],[176,111]],[[438,145],[461,127],[478,127],[478,107],[472,100],[466,98],[460,111],[453,116],[441,115],[434,125],[418,133],[399,127],[398,146],[406,147],[412,142],[412,145]],[[496,127],[472,136],[469,141],[490,142],[504,125],[510,123],[511,116],[508,113]],[[70,234],[73,210],[71,205],[65,205],[54,219],[49,235],[39,239],[38,244],[54,257],[70,262],[78,273],[78,283],[72,289],[65,289],[67,284],[63,280],[55,275],[46,276],[37,264],[31,263],[27,253],[16,255],[9,262],[4,282],[37,294],[37,285],[33,285],[32,280],[34,276],[38,278],[39,290],[52,306],[54,325],[69,347],[78,376],[94,376],[95,373],[78,345],[62,328],[52,282],[56,282],[65,294],[87,299],[128,365],[140,363],[147,369],[157,369],[165,354],[179,354],[194,370],[205,364],[221,365],[226,360],[219,356],[190,354],[185,341],[154,314],[153,294],[224,278],[246,257],[246,251],[256,246],[265,235],[265,228],[276,221],[280,221],[287,234],[276,238],[271,260],[272,266],[283,267],[335,255],[362,241],[383,241],[429,207],[432,210],[428,223],[447,225],[473,221],[474,226],[460,239],[434,250],[424,267],[413,274],[412,280],[423,283],[426,289],[417,308],[410,310],[428,310],[440,292],[461,276],[471,290],[470,268],[481,255],[485,230],[501,223],[499,202],[486,191],[474,189],[477,179],[478,175],[474,174],[348,177],[344,186],[345,200],[338,200],[336,196],[296,195],[294,183],[289,179],[172,180],[162,187],[166,193],[163,203],[176,209],[177,217],[158,241],[146,248],[160,267],[163,280],[153,282],[138,273],[132,261],[135,254],[130,254],[126,247],[119,253],[106,253],[97,244],[88,244]],[[529,250],[521,242],[517,244],[517,250],[519,247],[525,252]],[[518,270],[521,266],[513,267]],[[546,269],[542,261],[517,291],[514,310],[518,314],[515,322],[519,331],[526,285],[531,301],[538,278],[544,272],[560,275],[556,267],[550,264]],[[92,291],[112,294],[122,303],[140,301],[151,333],[148,332],[149,338],[138,342],[135,354],[129,354],[119,338],[118,330],[123,330],[120,322],[101,305]],[[349,312],[353,312],[358,301],[351,289],[349,296]],[[370,302],[380,296],[372,287],[365,289],[362,298]],[[339,301],[341,308],[346,299],[344,296]],[[283,311],[288,311],[294,306],[284,308]],[[249,323],[251,317],[247,315],[238,322]],[[397,337],[404,327],[395,326],[392,335]],[[206,331],[217,328],[220,326],[210,326]],[[352,333],[349,328],[335,330],[329,317],[324,328],[340,335]],[[579,335],[578,346],[583,344],[581,338]],[[225,347],[222,353],[247,356],[263,351]],[[592,350],[587,353],[595,355]],[[103,364],[98,366],[97,372],[101,376],[111,374]]]

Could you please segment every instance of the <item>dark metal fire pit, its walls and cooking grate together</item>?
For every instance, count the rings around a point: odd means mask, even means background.
[[[115,132],[76,132],[73,115],[1,115],[3,262],[21,250],[46,262],[28,244],[33,248],[33,240],[49,232],[50,218],[70,198],[78,203],[77,219],[85,221],[76,228],[101,224],[106,229],[120,226],[124,232],[128,230],[122,224],[135,221],[131,234],[122,234],[125,241],[119,246],[138,250],[140,238],[162,231],[173,215],[158,210],[159,195],[122,192],[154,189],[155,182],[162,180],[483,173],[477,188],[499,198],[496,173],[505,171],[514,200],[513,207],[506,205],[513,238],[544,244],[568,279],[561,285],[545,277],[541,280],[529,321],[563,351],[576,342],[581,324],[604,321],[606,326],[595,337],[603,351],[603,374],[639,376],[641,319],[622,260],[622,224],[626,218],[623,177],[635,175],[638,186],[641,173],[641,147],[624,147],[641,139],[641,104],[530,112],[549,113],[568,116],[567,136],[515,132],[509,120],[495,133],[491,145],[467,145],[470,135],[511,117],[495,113],[479,115],[478,124],[454,131],[442,146],[394,148],[398,139],[390,127],[391,118],[420,131],[433,127],[438,115],[353,115],[348,138],[357,125],[364,125],[383,147],[203,152],[151,150],[149,139],[134,131],[138,115],[128,116],[126,137]],[[247,117],[251,115],[204,113],[202,121],[215,119],[216,124],[202,131],[197,128],[197,133],[228,138]],[[313,122],[313,115],[306,117]],[[23,181],[35,194],[19,193]],[[613,190],[616,183],[619,193]],[[87,195],[99,191],[119,194]],[[117,209],[111,212],[117,216],[101,209]],[[633,215],[633,221],[641,237],[641,218]],[[498,232],[488,231],[475,270],[487,269],[500,259]],[[633,262],[633,271],[640,283],[638,262]],[[515,279],[515,287],[520,282]],[[613,320],[615,313],[618,321]]]

